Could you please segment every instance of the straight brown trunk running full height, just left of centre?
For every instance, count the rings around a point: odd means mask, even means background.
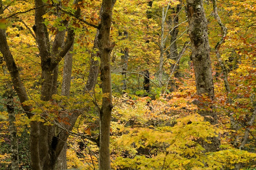
[[[112,8],[116,0],[102,1],[102,18],[99,24],[98,47],[101,58],[102,107],[99,110],[99,170],[110,170],[109,135],[112,112],[112,86],[110,54],[113,45],[110,44],[110,27]]]

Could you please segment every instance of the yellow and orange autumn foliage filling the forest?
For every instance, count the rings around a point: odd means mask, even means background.
[[[7,7],[0,17],[8,17],[20,11],[34,8],[34,1],[1,1]],[[50,2],[50,1],[48,1]],[[74,13],[72,1],[65,0],[61,16],[56,15],[57,9],[53,6],[43,16],[44,24],[50,30],[50,43],[56,32],[75,28],[76,37],[74,42],[72,79],[70,96],[61,96],[62,71],[64,62],[59,63],[59,76],[57,95],[53,100],[40,100],[41,94],[41,63],[36,40],[31,28],[34,25],[33,10],[18,13],[8,18],[0,19],[0,29],[6,28],[7,42],[15,63],[18,66],[20,76],[29,94],[29,100],[24,104],[33,106],[31,112],[35,114],[28,119],[20,111],[20,103],[14,98],[16,110],[16,126],[19,136],[19,159],[20,169],[30,169],[29,153],[29,124],[31,121],[41,121],[48,126],[57,123],[68,124],[67,119],[62,118],[64,114],[71,111],[79,111],[73,133],[85,135],[98,139],[99,121],[98,107],[101,105],[102,94],[101,80],[95,84],[91,94],[85,92],[84,86],[89,76],[91,54],[98,54],[93,48],[96,28],[84,25],[71,17],[68,13]],[[229,72],[229,84],[231,93],[227,95],[225,84],[222,80],[222,71],[218,59],[214,54],[214,47],[219,41],[221,30],[212,15],[212,4],[205,1],[204,8],[208,22],[208,34],[211,46],[211,60],[214,79],[215,101],[196,96],[195,75],[190,55],[191,49],[187,48],[179,64],[179,78],[175,79],[176,87],[173,92],[167,88],[158,88],[159,75],[159,41],[161,41],[161,19],[162,7],[171,7],[167,12],[167,20],[164,30],[170,29],[173,24],[173,11],[177,4],[182,1],[153,1],[152,7],[149,0],[118,0],[113,7],[113,22],[111,26],[110,41],[115,46],[111,54],[112,58],[112,90],[113,109],[110,129],[110,159],[113,169],[234,169],[237,164],[244,169],[253,169],[255,159],[255,120],[248,125],[255,109],[256,92],[256,6],[254,1],[243,0],[221,0],[218,2],[219,15],[223,24],[228,28],[225,43],[221,46],[221,60]],[[101,1],[83,0],[82,18],[97,25],[99,22],[99,9]],[[151,13],[148,19],[147,14]],[[179,13],[180,20],[186,20],[186,11],[182,8]],[[64,27],[61,20],[69,20],[70,25]],[[28,29],[30,28],[30,30]],[[187,29],[187,23],[179,25],[178,35]],[[120,36],[119,32],[128,32],[128,38]],[[165,36],[169,32],[164,31]],[[170,36],[166,47],[170,45]],[[185,41],[187,32],[177,40],[177,52],[180,52]],[[165,47],[165,48],[166,48]],[[121,79],[123,61],[121,51],[128,49],[128,72],[127,89],[122,89]],[[170,52],[170,51],[167,51]],[[168,53],[164,54],[166,60],[163,66],[163,81],[167,84],[171,74],[170,64],[174,60],[167,59]],[[0,54],[2,57],[2,54]],[[94,61],[100,58],[94,57]],[[1,64],[1,66],[3,66]],[[150,73],[150,92],[143,88],[144,71]],[[10,80],[0,71],[0,102],[6,103],[5,80]],[[166,85],[165,84],[165,85]],[[125,93],[124,93],[125,91]],[[147,97],[143,97],[143,96]],[[232,102],[227,102],[228,98]],[[207,103],[206,109],[218,112],[219,125],[212,126],[203,121],[203,117],[197,115],[196,102]],[[210,106],[211,108],[209,108]],[[10,140],[8,131],[8,114],[4,104],[0,104],[0,169],[10,169]],[[89,108],[83,110],[83,108]],[[42,118],[47,114],[48,117]],[[240,127],[232,130],[230,115],[234,117]],[[241,144],[246,129],[250,130],[248,140],[242,150],[237,146]],[[222,133],[223,132],[223,133]],[[201,146],[202,140],[207,137],[220,134],[222,147],[218,152],[204,153]],[[237,146],[234,145],[237,142]],[[86,144],[86,146],[84,145]],[[89,151],[90,149],[91,151]],[[67,161],[68,168],[97,169],[98,146],[94,142],[79,136],[69,137]],[[95,154],[95,155],[93,155]],[[207,164],[208,167],[205,167]]]

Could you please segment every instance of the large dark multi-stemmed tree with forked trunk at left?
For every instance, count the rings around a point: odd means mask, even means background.
[[[74,1],[74,4],[78,4],[78,1]],[[53,5],[61,8],[61,2]],[[65,42],[64,39],[66,31],[57,31],[51,50],[49,34],[43,18],[43,15],[46,14],[46,6],[48,5],[43,1],[35,0],[35,25],[33,26],[33,30],[35,32],[39,55],[41,57],[43,80],[41,90],[42,101],[48,101],[52,99],[53,94],[56,94],[58,63],[68,52],[74,41],[74,29],[68,29],[67,40]],[[75,16],[80,16],[79,8],[76,10]],[[67,20],[63,20],[62,22],[67,26]],[[19,96],[20,102],[23,103],[29,98],[20,79],[18,68],[16,67],[14,59],[8,48],[5,29],[0,29],[0,41],[0,50],[10,72],[12,83],[14,84],[14,88]],[[28,117],[31,118],[33,116],[30,112],[31,107],[25,106],[24,104],[22,104],[22,106]],[[74,114],[69,121],[74,124],[77,117],[78,115]],[[66,127],[69,130],[72,129],[72,126],[69,125],[66,125]],[[30,151],[32,169],[55,169],[57,157],[63,149],[68,137],[68,134],[64,130],[55,134],[55,128],[57,127],[44,125],[43,122],[31,122]]]

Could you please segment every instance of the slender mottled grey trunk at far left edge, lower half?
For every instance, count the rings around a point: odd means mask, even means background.
[[[3,57],[0,58],[0,64],[3,64]],[[7,67],[4,64],[2,66],[4,75],[8,75]],[[7,95],[7,112],[9,120],[9,130],[10,130],[10,141],[11,141],[11,161],[12,170],[19,170],[19,152],[18,152],[18,138],[17,138],[17,128],[15,126],[15,112],[13,108],[13,94],[14,90],[12,84],[9,80],[6,82],[6,95]]]

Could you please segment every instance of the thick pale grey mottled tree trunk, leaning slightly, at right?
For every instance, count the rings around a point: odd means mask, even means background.
[[[206,94],[214,100],[214,85],[210,60],[210,46],[207,33],[207,20],[204,13],[202,0],[187,0],[189,37],[191,39],[192,60],[196,78],[197,95]],[[205,117],[204,120],[215,125],[218,123],[217,113],[204,109],[205,104],[197,102],[198,112]],[[211,143],[202,142],[207,152],[217,151],[220,141],[218,137],[208,140]]]

